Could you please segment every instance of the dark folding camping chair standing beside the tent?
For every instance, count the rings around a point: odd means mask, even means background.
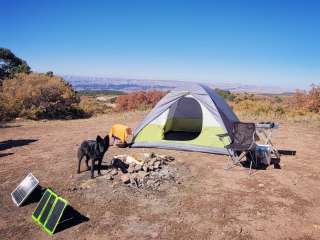
[[[246,160],[250,161],[249,175],[251,174],[252,164],[257,166],[255,156],[255,135],[256,127],[254,123],[236,122],[233,124],[232,133],[218,134],[217,136],[222,139],[224,137],[230,137],[231,143],[226,145],[225,148],[229,153],[229,157],[232,160],[232,165],[225,168],[229,170],[241,163],[241,160],[246,157]]]

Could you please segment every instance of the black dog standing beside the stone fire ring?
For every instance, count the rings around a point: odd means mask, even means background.
[[[102,139],[99,135],[94,140],[83,141],[78,149],[78,171],[80,173],[81,160],[86,157],[87,170],[89,170],[89,160],[91,159],[91,178],[94,176],[94,164],[98,161],[98,174],[101,175],[101,162],[104,154],[109,148],[109,135]]]

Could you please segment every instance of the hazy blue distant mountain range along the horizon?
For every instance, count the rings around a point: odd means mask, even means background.
[[[146,91],[146,90],[161,90],[170,91],[175,87],[183,86],[187,82],[174,80],[143,80],[143,79],[125,79],[125,78],[110,78],[110,77],[92,77],[92,76],[75,76],[63,75],[66,81],[72,84],[77,90],[116,90],[116,91]],[[205,83],[212,88],[220,88],[232,92],[250,92],[250,93],[266,93],[266,94],[281,94],[290,92],[288,89],[271,86],[255,86],[247,84],[232,84],[232,83]]]

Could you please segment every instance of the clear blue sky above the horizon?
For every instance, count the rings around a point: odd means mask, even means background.
[[[0,46],[35,71],[307,88],[320,1],[0,1]]]

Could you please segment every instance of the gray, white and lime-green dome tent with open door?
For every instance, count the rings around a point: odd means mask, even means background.
[[[132,147],[228,154],[218,134],[232,133],[237,116],[203,84],[186,84],[164,96],[135,128]]]

